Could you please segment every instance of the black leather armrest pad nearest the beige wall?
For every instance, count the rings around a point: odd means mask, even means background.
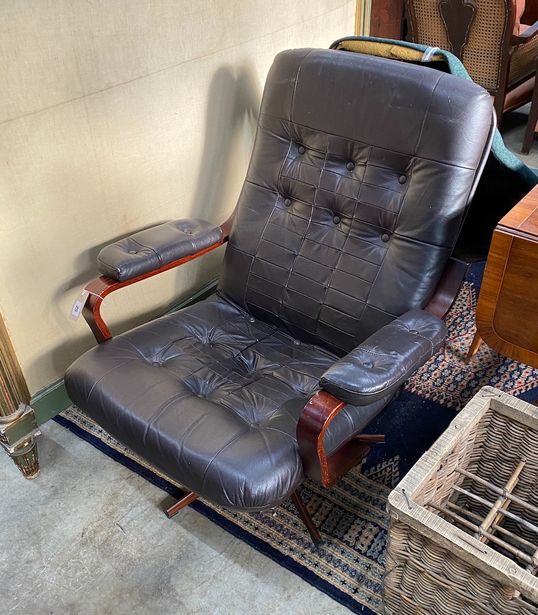
[[[105,246],[97,256],[99,271],[124,282],[194,255],[222,239],[220,226],[205,220],[174,220]]]

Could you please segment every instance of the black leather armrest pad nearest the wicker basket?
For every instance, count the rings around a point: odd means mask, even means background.
[[[396,392],[446,337],[437,316],[411,309],[376,331],[323,374],[320,385],[342,402],[365,406]]]

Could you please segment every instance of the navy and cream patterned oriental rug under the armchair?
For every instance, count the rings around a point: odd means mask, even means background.
[[[318,549],[291,500],[264,514],[230,512],[199,500],[191,506],[352,613],[382,615],[389,523],[386,499],[392,488],[480,387],[489,384],[529,402],[538,397],[538,370],[501,357],[485,344],[470,365],[464,362],[475,333],[480,279],[481,271],[472,270],[448,315],[445,346],[368,428],[386,434],[387,443],[372,447],[362,472],[355,467],[331,489],[304,483],[301,494],[324,538]],[[55,421],[167,493],[181,496],[180,485],[116,442],[77,408],[68,408]]]

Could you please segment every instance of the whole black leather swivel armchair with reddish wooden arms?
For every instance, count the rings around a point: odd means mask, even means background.
[[[66,387],[192,492],[170,514],[197,496],[249,511],[291,496],[319,541],[297,488],[362,458],[382,438],[363,429],[443,343],[431,312],[494,125],[488,93],[459,77],[285,51],[233,223],[175,221],[101,251],[85,306],[101,343]],[[109,292],[226,240],[215,295],[111,337]]]

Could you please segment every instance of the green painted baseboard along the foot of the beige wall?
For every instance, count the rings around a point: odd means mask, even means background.
[[[217,282],[218,279],[211,280],[211,282],[208,282],[208,284],[205,284],[205,286],[197,290],[196,293],[180,301],[180,303],[176,303],[172,308],[168,308],[167,311],[160,314],[160,316],[172,314],[172,312],[178,309],[186,308],[193,303],[206,299],[215,292]],[[34,410],[38,425],[42,425],[49,421],[49,419],[52,419],[53,416],[60,414],[61,411],[69,408],[72,403],[73,402],[71,402],[67,396],[63,378],[58,378],[53,383],[45,386],[44,389],[32,395],[30,399],[30,406]]]

